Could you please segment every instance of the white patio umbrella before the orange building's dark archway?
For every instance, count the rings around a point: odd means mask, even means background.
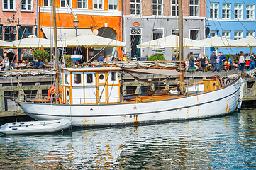
[[[125,42],[113,40],[111,38],[104,38],[96,36],[93,34],[79,35],[74,38],[69,38],[67,41],[67,46],[84,46],[84,47],[124,47],[126,46]]]

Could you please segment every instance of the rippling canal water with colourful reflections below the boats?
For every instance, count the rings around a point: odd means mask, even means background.
[[[256,108],[219,118],[0,137],[0,169],[256,169]]]

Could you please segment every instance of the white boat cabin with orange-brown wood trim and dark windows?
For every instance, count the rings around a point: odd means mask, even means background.
[[[120,72],[116,67],[60,69],[62,103],[104,104],[120,102]]]

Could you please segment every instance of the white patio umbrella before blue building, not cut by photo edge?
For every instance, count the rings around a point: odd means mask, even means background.
[[[238,42],[237,40],[231,40],[218,36],[199,40],[199,42],[206,42],[211,45],[211,47],[214,47],[215,50],[217,50],[218,47],[247,47],[245,42]]]

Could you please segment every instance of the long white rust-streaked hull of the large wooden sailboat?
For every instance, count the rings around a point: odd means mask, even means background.
[[[108,126],[189,120],[225,115],[236,111],[242,101],[245,79],[229,86],[194,96],[145,103],[62,105],[18,102],[36,120],[67,118],[74,126]],[[241,96],[241,97],[240,97]]]

